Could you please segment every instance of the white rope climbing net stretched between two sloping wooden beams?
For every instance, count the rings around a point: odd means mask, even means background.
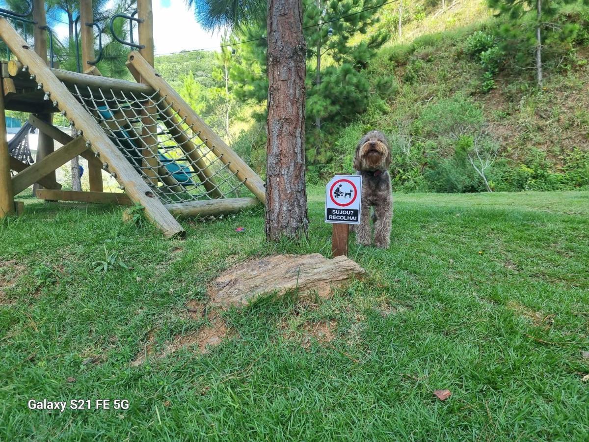
[[[157,91],[77,84],[70,91],[164,204],[250,196],[223,154],[216,156]]]

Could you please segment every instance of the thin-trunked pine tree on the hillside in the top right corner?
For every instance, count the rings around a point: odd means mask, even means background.
[[[524,61],[534,56],[536,81],[542,85],[542,54],[562,42],[569,42],[577,32],[577,25],[555,24],[554,18],[564,5],[581,0],[488,0],[489,7],[497,9],[497,15],[507,17],[508,22],[501,28],[504,50],[514,52],[515,58]],[[582,0],[585,5],[589,0]]]

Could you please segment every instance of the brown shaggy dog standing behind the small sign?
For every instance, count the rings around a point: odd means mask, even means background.
[[[373,130],[360,139],[354,157],[356,174],[362,175],[362,215],[360,225],[354,229],[358,244],[369,246],[372,242],[370,207],[374,207],[375,246],[388,249],[391,244],[393,195],[388,171],[390,165],[391,152],[385,134]]]

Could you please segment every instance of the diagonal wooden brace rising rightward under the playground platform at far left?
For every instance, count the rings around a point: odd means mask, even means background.
[[[44,157],[41,161],[31,164],[27,169],[12,177],[12,192],[14,192],[15,195],[18,195],[23,190],[27,189],[27,187],[31,186],[31,184],[38,183],[40,179],[55,172],[55,169],[63,166],[86,149],[87,147],[84,138],[75,138],[75,140],[65,144],[61,149],[48,154],[48,156]]]

